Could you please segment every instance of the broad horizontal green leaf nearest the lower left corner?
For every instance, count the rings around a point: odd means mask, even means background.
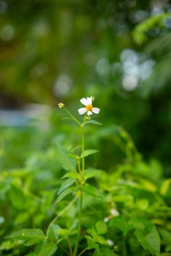
[[[41,229],[38,228],[30,228],[30,229],[22,229],[13,232],[7,238],[17,238],[24,241],[24,245],[30,246],[40,241],[44,240],[45,234]]]

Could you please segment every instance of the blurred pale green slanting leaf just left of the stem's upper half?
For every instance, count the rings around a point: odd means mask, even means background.
[[[67,151],[59,143],[57,143],[57,154],[58,154],[59,162],[61,163],[61,166],[65,170],[76,171],[73,162],[71,161],[69,156],[67,156]]]

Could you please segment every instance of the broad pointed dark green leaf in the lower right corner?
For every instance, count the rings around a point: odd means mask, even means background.
[[[135,235],[143,249],[149,251],[149,253],[159,255],[160,253],[160,236],[156,230],[156,226],[151,226],[148,232],[142,230],[136,230]]]

